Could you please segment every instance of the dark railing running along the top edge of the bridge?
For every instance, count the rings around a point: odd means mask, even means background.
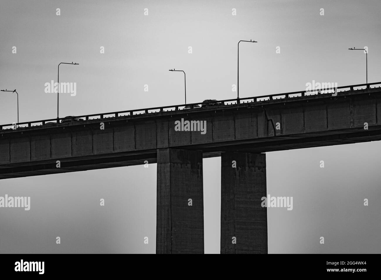
[[[343,91],[354,91],[354,90],[364,90],[364,88],[358,88],[358,87],[366,87],[365,89],[370,89],[371,85],[379,85],[378,88],[381,86],[381,82],[377,83],[365,83],[365,84],[359,84],[359,85],[350,85],[350,86],[338,86],[337,89],[347,89]],[[357,88],[357,89],[354,89]],[[373,87],[373,88],[376,88]],[[190,104],[181,104],[181,105],[174,105],[174,106],[162,106],[162,107],[152,107],[152,108],[145,108],[145,109],[137,109],[137,110],[126,110],[126,111],[118,111],[118,112],[110,112],[110,113],[103,113],[103,114],[91,114],[91,115],[83,115],[83,116],[73,116],[73,117],[65,117],[65,118],[59,118],[58,124],[57,124],[57,118],[51,118],[47,120],[38,120],[34,122],[22,122],[22,123],[11,123],[6,125],[0,125],[0,131],[3,130],[18,130],[22,128],[30,128],[34,126],[43,126],[43,125],[51,125],[56,127],[57,125],[62,125],[64,123],[73,122],[75,120],[80,121],[86,121],[86,120],[101,120],[106,118],[119,118],[119,117],[128,117],[128,116],[135,116],[135,115],[146,115],[146,114],[154,114],[154,113],[161,113],[161,112],[169,112],[169,111],[178,111],[178,110],[202,110],[202,109],[210,109],[210,106],[206,107],[195,107],[194,105],[202,106],[202,104],[210,104],[210,103],[219,103],[217,106],[213,106],[213,108],[221,107],[221,106],[227,106],[227,105],[240,105],[240,104],[248,104],[248,103],[258,103],[258,102],[266,102],[266,101],[274,101],[277,99],[296,99],[296,98],[306,98],[309,96],[315,96],[315,95],[325,95],[325,94],[331,94],[334,88],[324,88],[319,90],[310,90],[310,91],[294,91],[294,92],[288,92],[288,93],[277,93],[277,94],[267,94],[263,96],[254,96],[254,97],[248,97],[248,98],[240,98],[239,102],[237,102],[237,99],[226,99],[226,100],[220,100],[220,101],[208,101],[208,102],[202,102],[202,103],[190,103]],[[343,91],[337,91],[337,92],[343,92]],[[306,94],[307,93],[307,94]],[[327,95],[328,96],[328,95]],[[261,100],[263,99],[263,100]],[[247,102],[245,102],[247,101]],[[228,102],[231,102],[230,104]],[[235,103],[234,103],[235,102]],[[109,116],[109,117],[107,117]],[[62,122],[63,121],[63,122]],[[49,123],[51,122],[51,123]],[[16,128],[16,125],[18,126]]]

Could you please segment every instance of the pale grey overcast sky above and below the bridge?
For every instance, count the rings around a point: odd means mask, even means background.
[[[0,89],[18,91],[20,122],[56,117],[44,84],[59,62],[79,63],[60,66],[60,81],[77,83],[76,96],[60,95],[60,117],[182,104],[173,68],[186,72],[188,102],[235,98],[239,40],[258,41],[240,43],[240,97],[365,83],[365,54],[352,47],[368,46],[368,82],[381,80],[379,0],[0,5]],[[16,120],[16,95],[0,92],[0,123]],[[269,253],[380,253],[380,147],[266,153],[267,193],[293,196],[292,211],[267,209]],[[219,253],[220,158],[203,163],[205,253]],[[155,164],[0,180],[5,194],[31,206],[0,209],[1,253],[155,253]]]

